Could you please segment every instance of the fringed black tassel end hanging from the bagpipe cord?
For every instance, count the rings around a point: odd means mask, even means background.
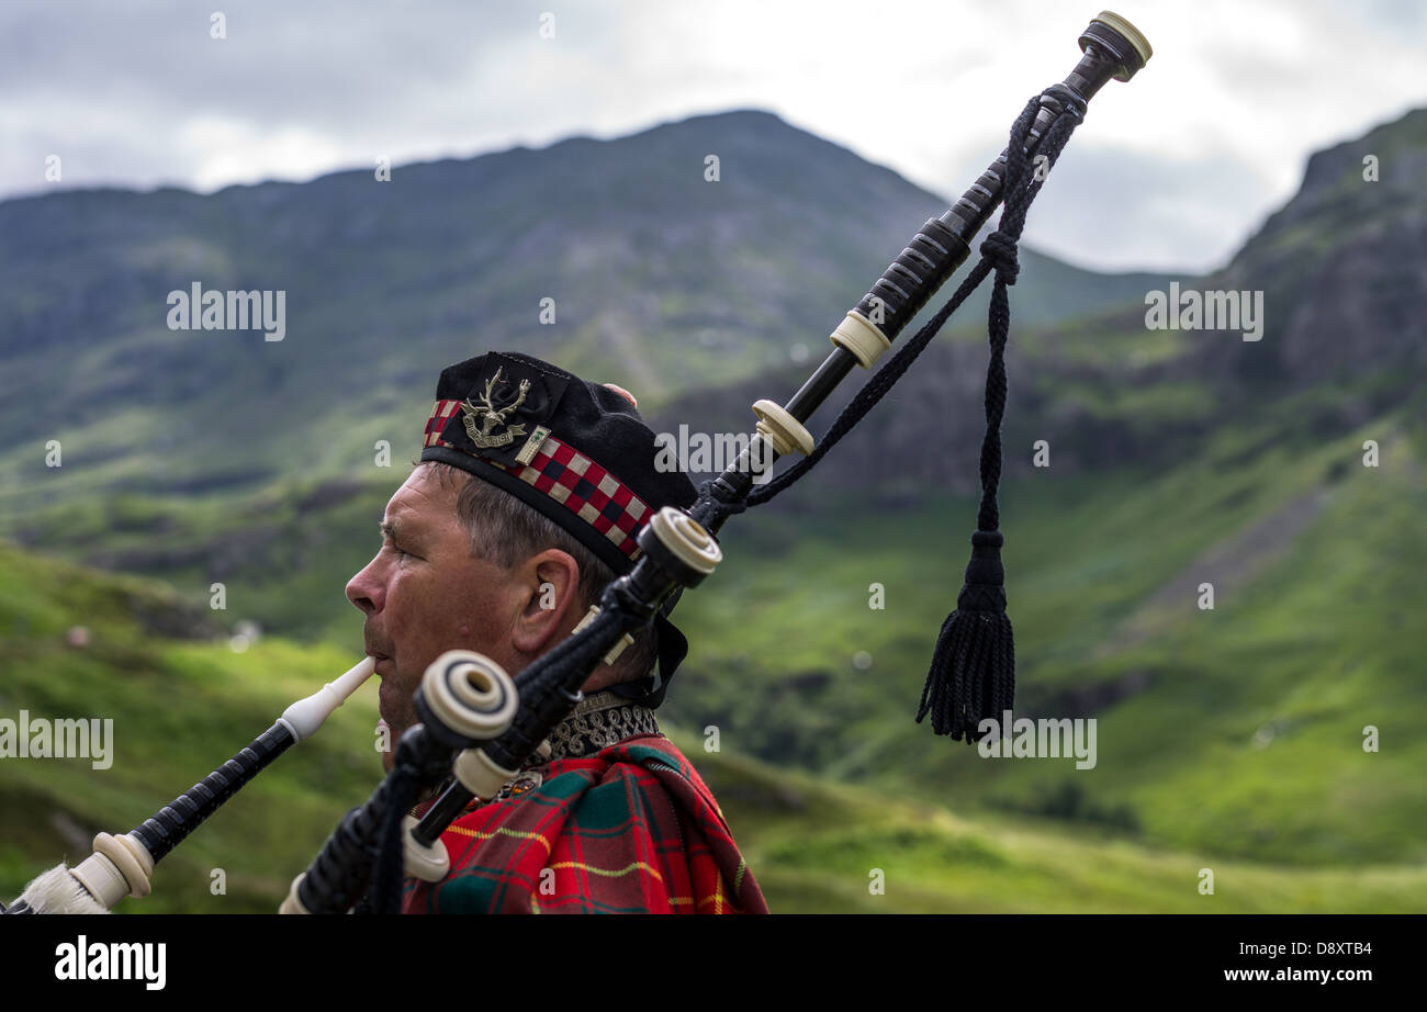
[[[983,718],[1000,721],[1016,695],[1016,644],[1006,614],[1000,531],[972,535],[972,561],[956,611],[942,622],[916,719],[932,715],[932,731],[953,741],[979,741]]]

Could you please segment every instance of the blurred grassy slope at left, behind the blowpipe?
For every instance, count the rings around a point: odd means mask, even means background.
[[[150,637],[136,607],[157,609],[137,581],[96,577],[0,542],[0,645],[7,675],[0,714],[111,718],[113,765],[88,759],[0,759],[0,882],[6,898],[88,839],[126,832],[221,765],[288,702],[340,674],[352,658],[330,647],[264,639],[244,654],[225,642]],[[148,604],[144,604],[148,602]],[[91,645],[64,645],[81,621]],[[364,688],[323,735],[283,757],[186,841],[160,868],[143,909],[270,911],[315,855],[342,811],[380,774],[372,741],[375,692]],[[228,894],[208,894],[223,868]],[[133,905],[134,901],[126,901]]]

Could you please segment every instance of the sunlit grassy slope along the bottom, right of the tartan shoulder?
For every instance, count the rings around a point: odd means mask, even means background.
[[[1301,869],[1147,848],[1113,835],[832,785],[674,732],[714,788],[775,912],[1420,912],[1427,868]],[[1214,894],[1200,895],[1200,871]],[[885,874],[885,894],[870,872]]]

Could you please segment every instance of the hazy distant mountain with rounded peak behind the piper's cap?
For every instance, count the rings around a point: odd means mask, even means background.
[[[400,166],[391,183],[352,170],[0,201],[0,532],[57,524],[53,504],[100,490],[350,475],[378,440],[410,445],[440,370],[488,348],[615,378],[645,407],[756,375],[795,344],[828,347],[952,200],[743,110]],[[1162,280],[1022,261],[1025,321]],[[193,284],[285,293],[285,335],[170,330],[168,293]],[[46,464],[50,441],[63,468]]]

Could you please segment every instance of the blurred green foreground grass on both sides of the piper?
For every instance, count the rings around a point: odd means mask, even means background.
[[[331,678],[350,654],[263,639],[173,639],[191,615],[151,584],[116,580],[0,542],[0,645],[11,658],[0,709],[114,719],[110,769],[81,759],[0,762],[0,895],[100,829],[124,831],[218,765],[291,699]],[[90,631],[66,645],[73,617]],[[362,689],[315,739],[261,774],[164,859],[151,896],[120,912],[270,912],[341,814],[378,776],[367,752],[375,717]],[[732,749],[709,754],[672,729],[719,796],[775,912],[1277,912],[1414,911],[1427,869],[1301,869],[1207,852],[1154,849],[1093,826],[1007,815],[969,818],[896,792],[858,789],[776,768]],[[926,752],[940,742],[923,739]],[[976,759],[958,749],[962,762]],[[1197,892],[1213,868],[1213,896]],[[210,891],[211,871],[225,895]],[[883,892],[869,884],[879,871]]]

